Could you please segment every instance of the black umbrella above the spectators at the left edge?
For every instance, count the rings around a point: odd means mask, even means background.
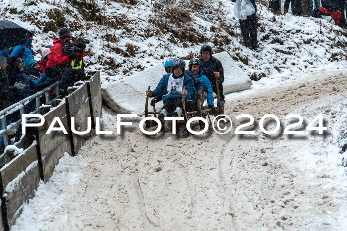
[[[34,34],[17,24],[7,21],[0,21],[0,50],[12,46],[22,45]]]

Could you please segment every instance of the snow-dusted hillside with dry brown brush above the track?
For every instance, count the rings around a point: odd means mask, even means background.
[[[205,43],[227,50],[252,80],[346,66],[346,30],[324,19],[274,15],[259,3],[258,52],[241,45],[230,0],[2,0],[0,19],[33,31],[38,53],[61,27],[90,39],[86,63],[103,71],[102,86],[167,58],[198,56]]]

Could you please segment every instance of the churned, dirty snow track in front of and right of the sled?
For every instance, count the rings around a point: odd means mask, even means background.
[[[233,120],[223,136],[152,139],[136,124],[122,137],[93,137],[77,157],[61,159],[13,230],[345,229],[346,170],[330,137],[346,121],[346,89],[346,73],[331,72],[228,97],[231,118],[248,113],[257,122],[271,113],[284,123],[297,113],[307,125],[322,113],[326,135],[268,136],[257,123],[255,135],[233,135]]]

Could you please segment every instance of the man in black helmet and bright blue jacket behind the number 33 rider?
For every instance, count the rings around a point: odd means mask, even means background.
[[[212,85],[210,80],[204,76],[201,73],[200,70],[200,60],[198,58],[192,58],[189,61],[188,65],[188,70],[191,71],[195,77],[207,88],[208,91],[204,92],[204,95],[202,96],[203,100],[202,102],[207,99],[207,105],[209,108],[214,108],[214,103],[213,103],[213,90],[212,90]]]

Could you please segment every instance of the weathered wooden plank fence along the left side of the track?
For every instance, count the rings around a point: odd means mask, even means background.
[[[83,143],[91,137],[72,134],[71,117],[75,118],[75,130],[86,131],[88,117],[95,129],[96,117],[101,116],[100,72],[65,97],[65,102],[43,115],[45,123],[37,128],[27,128],[27,135],[17,146],[25,148],[15,156],[5,153],[5,165],[0,169],[1,213],[0,230],[9,230],[19,217],[23,205],[33,198],[40,180],[47,182],[64,152],[77,155]],[[46,134],[55,117],[59,117],[68,134],[52,131]],[[34,140],[34,141],[33,141]],[[25,143],[30,142],[27,148]]]

